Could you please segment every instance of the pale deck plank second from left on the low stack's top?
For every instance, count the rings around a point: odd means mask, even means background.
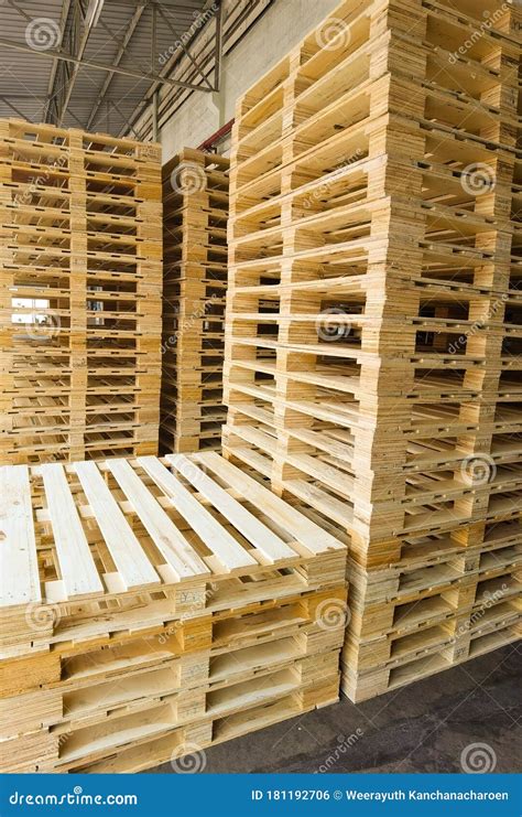
[[[67,598],[104,592],[64,469],[41,465],[54,542]]]

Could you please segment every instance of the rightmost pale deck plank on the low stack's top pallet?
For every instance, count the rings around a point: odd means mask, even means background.
[[[222,456],[211,451],[202,454],[194,454],[194,459],[210,471],[220,476],[222,480],[243,496],[248,496],[251,502],[259,505],[259,508],[270,516],[278,525],[294,536],[298,542],[305,546],[312,553],[324,553],[327,550],[342,550],[345,545],[323,530],[318,525],[308,519],[304,514],[289,505],[284,499],[273,494],[271,491],[260,485],[259,482],[248,476],[243,471],[224,460]]]

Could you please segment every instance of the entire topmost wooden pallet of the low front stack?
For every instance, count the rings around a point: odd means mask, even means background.
[[[344,546],[217,454],[6,466],[0,479],[12,654],[344,582]],[[35,633],[28,604],[56,615]]]

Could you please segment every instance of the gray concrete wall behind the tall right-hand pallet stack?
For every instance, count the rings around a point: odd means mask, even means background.
[[[182,148],[197,147],[228,122],[237,99],[338,4],[339,0],[275,0],[225,56],[220,94],[193,94],[162,128],[163,161]]]

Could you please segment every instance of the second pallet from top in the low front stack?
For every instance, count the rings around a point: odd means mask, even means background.
[[[291,643],[294,657],[339,648],[342,615],[333,616],[329,627],[323,626],[322,619],[328,609],[342,611],[345,601],[344,583],[280,596],[275,589],[271,599],[239,606],[221,609],[216,602],[196,610],[194,605],[177,617],[167,611],[161,624],[129,627],[111,632],[109,636],[91,633],[89,638],[75,638],[69,631],[67,641],[50,637],[46,649],[28,651],[14,657],[9,654],[6,657],[4,653],[0,663],[1,697],[10,699],[23,695],[24,699],[37,702],[42,689],[67,695],[86,686],[163,669],[167,664],[175,666],[176,673],[180,668],[183,670],[188,686],[193,665],[203,667],[205,664],[204,676],[200,671],[197,674],[197,681],[203,684],[209,677],[210,660],[235,651],[242,654],[244,649],[275,641]],[[146,603],[143,600],[142,606]],[[33,610],[30,611],[33,624],[42,623],[44,610],[39,612],[36,620]],[[57,619],[57,611],[53,609],[53,612]],[[276,652],[274,649],[273,655]]]

